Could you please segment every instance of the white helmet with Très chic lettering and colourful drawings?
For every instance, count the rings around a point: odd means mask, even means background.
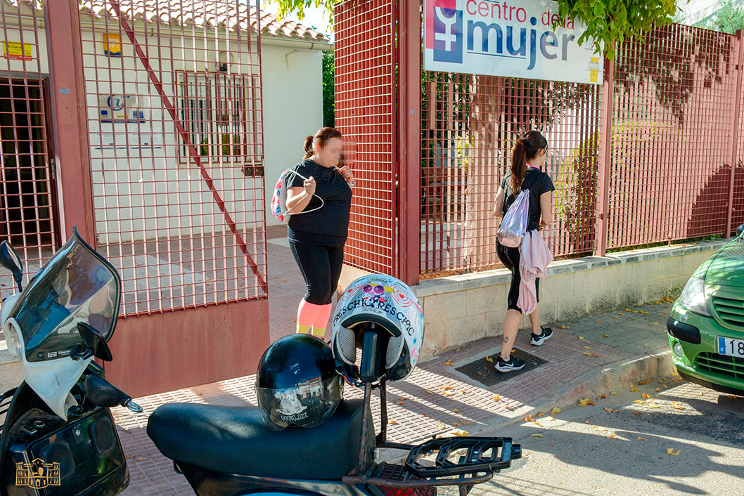
[[[395,277],[372,274],[359,277],[344,291],[333,315],[331,350],[336,367],[352,379],[359,379],[356,347],[365,323],[375,323],[391,334],[383,378],[408,377],[423,345],[423,312],[411,288]]]

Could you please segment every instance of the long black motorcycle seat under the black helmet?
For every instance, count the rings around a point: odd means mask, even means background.
[[[367,414],[371,450],[374,428]],[[282,479],[341,479],[356,468],[361,434],[362,400],[342,400],[318,427],[283,431],[267,428],[255,407],[170,403],[147,420],[147,435],[171,460],[222,474]]]

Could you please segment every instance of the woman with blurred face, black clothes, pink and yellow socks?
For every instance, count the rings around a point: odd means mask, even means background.
[[[297,213],[289,218],[289,248],[307,286],[297,310],[297,332],[312,330],[319,338],[339,285],[349,230],[354,175],[349,167],[336,167],[341,146],[341,133],[332,127],[308,136],[304,160],[292,169],[297,174],[286,179],[287,211]]]

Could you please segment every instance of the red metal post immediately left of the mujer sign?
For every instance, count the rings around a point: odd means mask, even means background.
[[[414,285],[421,271],[421,2],[399,1],[398,16],[398,277]]]

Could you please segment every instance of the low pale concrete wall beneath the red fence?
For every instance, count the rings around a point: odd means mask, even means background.
[[[725,240],[626,251],[551,263],[540,281],[543,326],[659,300],[682,289]],[[511,274],[506,269],[440,277],[414,286],[423,307],[427,360],[471,341],[501,335]],[[528,325],[527,317],[522,325]]]

